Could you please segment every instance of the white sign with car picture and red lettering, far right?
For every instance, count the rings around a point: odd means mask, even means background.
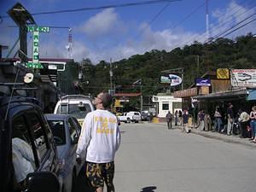
[[[232,69],[231,85],[234,87],[256,87],[256,69]]]

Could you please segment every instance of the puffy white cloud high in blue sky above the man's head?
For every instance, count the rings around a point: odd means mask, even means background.
[[[114,12],[114,9],[104,9],[101,13],[87,20],[79,28],[87,35],[96,37],[116,30],[114,26],[119,26],[118,15]]]

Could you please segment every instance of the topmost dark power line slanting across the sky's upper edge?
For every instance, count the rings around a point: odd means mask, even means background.
[[[63,10],[55,10],[55,11],[45,11],[45,12],[32,13],[31,15],[63,14],[63,13],[109,9],[109,8],[125,8],[125,7],[131,7],[131,6],[165,3],[165,2],[170,3],[170,2],[177,2],[177,1],[181,1],[181,0],[151,0],[151,1],[137,2],[137,3],[120,3],[120,4],[110,4],[110,5],[104,5],[104,6],[98,6],[98,7],[86,7],[86,8],[79,8],[79,9],[63,9]],[[9,17],[9,16],[8,15],[3,16],[3,18],[6,18],[6,17]]]

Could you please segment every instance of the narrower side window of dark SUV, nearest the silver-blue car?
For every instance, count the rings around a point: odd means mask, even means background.
[[[29,119],[31,123],[32,137],[34,138],[34,144],[38,151],[38,158],[39,160],[43,160],[44,155],[49,149],[49,143],[47,142],[46,135],[44,133],[44,126],[42,126],[35,113],[27,113],[27,119]]]

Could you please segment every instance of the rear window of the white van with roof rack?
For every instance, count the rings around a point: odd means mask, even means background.
[[[75,104],[68,104],[67,110],[67,103],[61,104],[57,110],[57,113],[68,113],[73,115],[76,119],[84,119],[86,114],[91,111],[90,105],[88,103],[75,103]]]

